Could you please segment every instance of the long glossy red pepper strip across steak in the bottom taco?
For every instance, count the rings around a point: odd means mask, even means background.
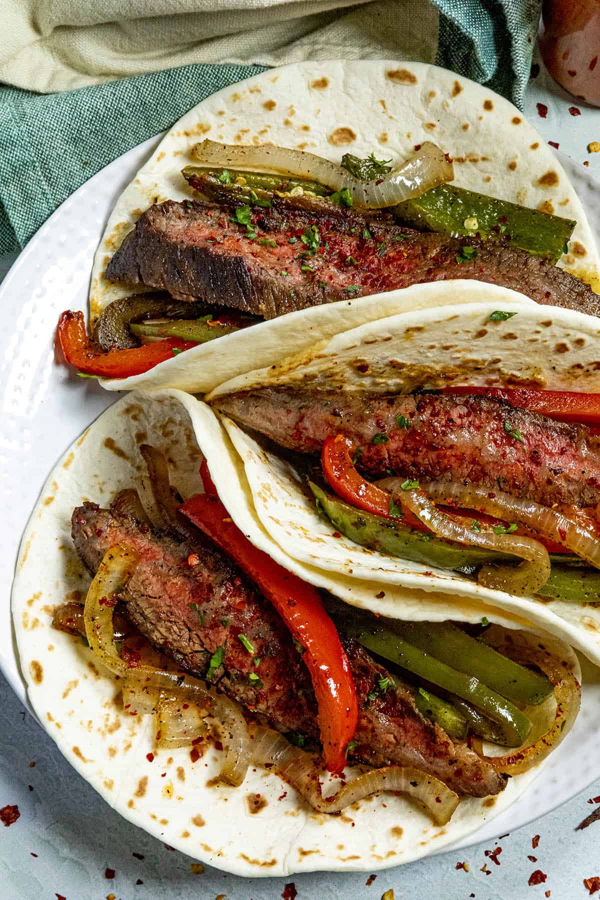
[[[205,481],[205,489],[210,490],[210,484]],[[348,658],[318,591],[252,545],[219,498],[208,491],[186,500],[180,512],[236,561],[304,647],[327,769],[340,774],[356,730],[358,703]]]

